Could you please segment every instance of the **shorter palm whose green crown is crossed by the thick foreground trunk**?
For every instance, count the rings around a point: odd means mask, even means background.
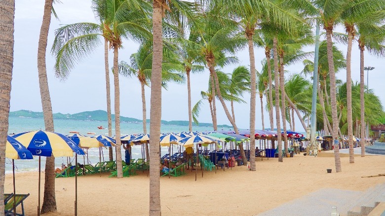
[[[171,58],[171,57],[170,57]],[[140,82],[142,90],[142,111],[143,111],[143,133],[147,134],[147,112],[146,112],[146,96],[145,85],[150,86],[151,71],[152,71],[153,52],[152,44],[144,43],[139,47],[137,53],[130,57],[130,64],[121,61],[119,64],[119,73],[126,76],[136,76]],[[182,71],[182,65],[173,59],[163,60],[162,63],[162,81],[163,87],[166,87],[168,81],[182,83],[184,76],[174,72]],[[148,144],[145,144],[146,158],[150,158]]]

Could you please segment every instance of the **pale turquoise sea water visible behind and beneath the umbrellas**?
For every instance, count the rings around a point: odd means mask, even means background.
[[[70,131],[77,131],[82,135],[86,135],[88,132],[96,133],[97,135],[108,135],[107,129],[98,129],[98,126],[103,126],[104,128],[108,127],[106,121],[79,121],[79,120],[67,120],[67,119],[55,119],[54,120],[54,128],[55,132],[62,134],[69,134]],[[147,125],[147,130],[149,131],[150,125]],[[22,118],[22,117],[9,117],[9,129],[8,134],[11,133],[21,133],[25,131],[35,131],[35,130],[44,130],[44,120],[42,118]],[[115,123],[113,122],[113,135],[115,134]],[[178,126],[178,125],[161,125],[161,132],[183,132],[188,131],[188,126]],[[199,127],[193,126],[193,131],[199,132],[210,132],[212,131],[212,127]],[[221,130],[221,129],[219,129]],[[139,134],[143,132],[142,122],[138,123],[128,123],[121,122],[120,123],[120,131],[121,134]],[[172,148],[173,152],[177,152],[178,149],[174,145]],[[102,148],[102,161],[108,161],[108,149]],[[124,160],[124,149],[121,148],[122,159]],[[131,158],[143,158],[142,156],[142,146],[137,145],[133,146],[131,149],[132,156]],[[168,147],[161,147],[161,155],[168,153]],[[115,149],[114,149],[114,158],[115,158]],[[78,163],[90,163],[95,165],[99,162],[99,149],[91,148],[88,149],[88,156],[78,156]],[[75,157],[56,157],[55,158],[55,166],[61,167],[61,164],[67,164],[67,162],[72,162],[75,164]],[[41,170],[44,170],[45,167],[45,158],[41,157]],[[34,156],[32,160],[15,160],[15,172],[27,172],[27,171],[38,171],[39,170],[39,157]],[[9,159],[5,160],[5,172],[12,172],[12,161]]]

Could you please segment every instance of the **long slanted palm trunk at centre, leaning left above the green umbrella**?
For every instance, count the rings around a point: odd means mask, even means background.
[[[223,97],[222,97],[222,95],[221,95],[221,91],[220,91],[220,89],[219,89],[219,80],[218,80],[217,73],[215,72],[212,63],[208,63],[208,65],[209,65],[209,71],[210,71],[211,75],[214,77],[214,81],[215,81],[215,89],[216,89],[216,91],[217,91],[217,93],[218,93],[219,101],[221,102],[222,107],[223,107],[223,109],[225,110],[226,116],[227,116],[227,118],[229,119],[229,121],[230,121],[232,127],[234,128],[235,134],[239,135],[238,128],[236,127],[235,122],[234,122],[234,120],[232,119],[231,114],[230,114],[230,112],[229,112],[229,109],[227,108],[227,106],[226,106],[226,104],[225,104],[225,100],[223,100]],[[214,97],[213,97],[213,101],[214,101]],[[213,103],[213,105],[214,105],[214,103]],[[215,108],[214,108],[214,109],[215,109]],[[214,113],[214,115],[215,115],[215,113]],[[251,133],[252,133],[252,132],[250,132],[250,137],[252,137],[252,134],[251,134]],[[253,133],[253,135],[254,135],[254,133]],[[251,139],[250,139],[250,140],[251,140]],[[250,145],[250,148],[251,148],[251,145]],[[242,157],[242,160],[243,160],[243,165],[246,166],[246,164],[247,164],[247,158],[246,158],[245,152],[244,152],[244,150],[243,150],[243,145],[242,145],[242,144],[239,145],[239,149],[240,149],[240,152],[241,152],[241,157]],[[255,151],[255,149],[254,149],[254,151]],[[255,154],[254,154],[254,157],[255,157]]]

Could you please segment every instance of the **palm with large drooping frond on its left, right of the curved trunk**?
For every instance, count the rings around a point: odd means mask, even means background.
[[[99,37],[107,38],[109,48],[114,49],[114,87],[115,87],[115,135],[116,155],[120,155],[120,101],[118,76],[118,49],[122,38],[145,41],[152,38],[147,17],[148,4],[142,0],[99,0],[102,5],[104,23],[101,29],[97,24],[72,24],[59,29],[53,45],[56,54],[55,71],[65,78],[79,59],[89,55],[100,44]],[[106,39],[105,39],[106,40]],[[121,157],[116,157],[117,177],[122,178]]]

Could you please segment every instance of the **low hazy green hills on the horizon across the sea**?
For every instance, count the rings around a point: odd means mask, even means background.
[[[9,117],[24,117],[24,118],[43,118],[43,112],[34,112],[31,110],[18,110],[9,112]],[[69,119],[69,120],[82,120],[82,121],[107,121],[107,112],[104,110],[84,111],[75,114],[63,114],[54,113],[54,119]],[[115,114],[112,114],[112,120],[115,121]],[[130,118],[120,116],[121,122],[142,122],[141,119]],[[150,119],[147,119],[147,123],[150,123]],[[189,121],[165,121],[161,120],[163,125],[178,125],[178,126],[189,126]],[[211,123],[199,123],[202,127],[212,127]],[[232,128],[229,125],[218,125],[220,128]]]

